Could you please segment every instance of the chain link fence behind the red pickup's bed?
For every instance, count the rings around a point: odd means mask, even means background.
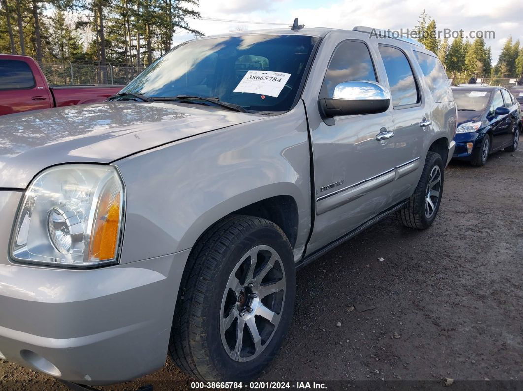
[[[135,66],[74,63],[44,63],[40,67],[51,85],[127,84],[144,69]]]

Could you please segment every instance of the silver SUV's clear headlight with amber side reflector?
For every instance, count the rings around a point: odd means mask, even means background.
[[[15,260],[89,267],[116,263],[123,184],[110,165],[67,164],[29,185],[15,224]]]

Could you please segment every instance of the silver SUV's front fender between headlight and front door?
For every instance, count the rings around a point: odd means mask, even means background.
[[[301,102],[285,114],[260,115],[115,164],[126,185],[121,263],[186,250],[222,217],[279,195],[298,206],[295,256],[305,246],[311,183]]]

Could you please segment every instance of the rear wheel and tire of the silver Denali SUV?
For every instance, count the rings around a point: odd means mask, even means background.
[[[407,205],[397,211],[405,227],[424,230],[429,228],[438,214],[443,195],[443,160],[436,152],[428,152],[422,176]]]

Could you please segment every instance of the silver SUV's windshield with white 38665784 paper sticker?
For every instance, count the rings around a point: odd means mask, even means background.
[[[246,110],[287,111],[316,41],[305,35],[251,34],[186,42],[159,58],[121,92],[149,98],[218,98]]]

